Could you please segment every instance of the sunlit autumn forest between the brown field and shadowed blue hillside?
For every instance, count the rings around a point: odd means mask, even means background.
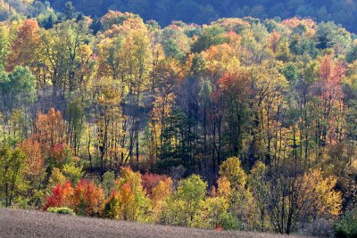
[[[341,25],[0,10],[0,207],[357,234],[357,37]]]

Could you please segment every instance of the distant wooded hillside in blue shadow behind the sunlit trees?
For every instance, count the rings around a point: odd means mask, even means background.
[[[68,2],[48,1],[58,11],[62,11]],[[202,24],[247,15],[261,20],[300,16],[316,21],[336,21],[347,29],[357,30],[357,3],[354,0],[76,0],[72,3],[86,15],[103,16],[108,10],[134,12],[145,20],[154,19],[165,26],[173,20]]]

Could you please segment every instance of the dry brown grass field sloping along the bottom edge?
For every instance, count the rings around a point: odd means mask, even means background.
[[[91,217],[71,217],[19,209],[0,209],[0,237],[294,237],[250,232],[216,232]]]

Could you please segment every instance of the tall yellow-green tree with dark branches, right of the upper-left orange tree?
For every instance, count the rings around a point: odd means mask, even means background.
[[[87,68],[90,58],[83,62],[79,56],[90,40],[89,25],[87,21],[65,21],[53,29],[41,30],[40,36],[42,54],[38,59],[38,79],[49,78],[53,87],[52,103],[56,105],[60,99],[58,96],[72,94],[83,81],[79,72]],[[42,84],[46,87],[47,82]]]

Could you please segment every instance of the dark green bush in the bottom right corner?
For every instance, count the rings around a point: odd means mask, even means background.
[[[346,212],[334,224],[336,237],[352,238],[357,236],[357,209]]]

